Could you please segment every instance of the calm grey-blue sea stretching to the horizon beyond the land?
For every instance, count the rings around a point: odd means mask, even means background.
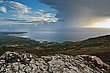
[[[31,38],[37,41],[50,42],[80,41],[88,38],[110,34],[110,29],[101,28],[49,28],[41,28],[37,26],[2,26],[0,27],[0,32],[27,32],[23,34],[9,35]]]

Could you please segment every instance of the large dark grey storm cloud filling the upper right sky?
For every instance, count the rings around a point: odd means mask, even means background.
[[[59,11],[60,19],[78,21],[110,16],[110,0],[40,0]]]

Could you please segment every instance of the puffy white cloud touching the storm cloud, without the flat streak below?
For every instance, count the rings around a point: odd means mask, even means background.
[[[17,14],[14,15],[16,17],[26,19],[29,22],[57,22],[58,18],[56,18],[56,14],[46,12],[46,11],[36,11],[30,14]]]

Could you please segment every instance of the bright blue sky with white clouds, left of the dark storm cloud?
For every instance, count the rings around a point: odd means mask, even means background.
[[[56,13],[38,0],[0,0],[0,25],[56,23]]]

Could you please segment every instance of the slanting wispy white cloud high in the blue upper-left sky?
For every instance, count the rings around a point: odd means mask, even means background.
[[[19,2],[6,1],[5,4],[9,5],[12,9],[16,10],[18,13],[27,13],[30,10],[30,8],[28,8],[26,5],[21,4]]]

